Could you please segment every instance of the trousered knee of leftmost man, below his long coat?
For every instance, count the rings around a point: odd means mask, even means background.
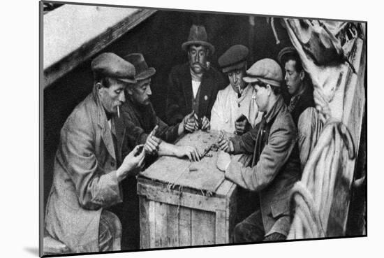
[[[119,218],[108,210],[103,210],[98,228],[98,245],[101,252],[120,248],[117,243],[121,238],[121,223]]]

